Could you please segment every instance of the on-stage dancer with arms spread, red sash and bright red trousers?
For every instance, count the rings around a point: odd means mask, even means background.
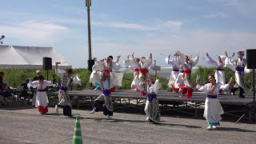
[[[183,80],[184,86],[181,86],[182,95],[186,94],[186,98],[190,98],[192,96],[192,80],[191,80],[191,70],[192,67],[198,63],[199,54],[196,58],[189,58],[187,55],[182,54],[180,51],[177,51],[178,54],[178,63],[183,66]]]

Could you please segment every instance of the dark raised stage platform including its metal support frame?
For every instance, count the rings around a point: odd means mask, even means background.
[[[68,91],[68,94],[70,96],[74,96],[77,98],[77,106],[79,108],[79,105],[81,106],[81,104],[79,104],[80,102],[82,102],[82,99],[84,98],[97,98],[98,95],[102,94],[101,90],[70,90]],[[50,95],[58,95],[58,92],[54,92],[54,93],[50,93]],[[143,101],[144,99],[146,99],[146,96],[143,96],[140,94],[140,92],[138,91],[134,91],[134,90],[116,90],[116,92],[111,93],[112,98],[114,98],[116,100],[116,102],[118,102],[118,100],[121,103],[121,99],[123,99],[124,102],[126,102],[127,104],[130,104],[130,101],[132,102],[133,100],[137,101],[137,103],[133,103],[133,104],[137,104],[138,103],[142,103],[144,104],[145,101]],[[248,113],[250,122],[252,121],[252,110],[253,109],[253,102],[254,102],[254,98],[253,98],[253,93],[247,93],[245,94],[246,98],[239,98],[238,97],[238,93],[237,95],[231,95],[231,94],[225,94],[225,95],[219,95],[218,99],[221,102],[222,106],[244,106],[246,107],[245,113]],[[117,100],[118,99],[118,100]],[[128,99],[127,101],[125,99]],[[142,101],[141,101],[142,100]],[[195,113],[195,117],[197,117],[198,114],[198,106],[202,106],[203,103],[206,100],[206,94],[202,93],[202,92],[194,92],[191,98],[186,98],[185,96],[182,96],[182,94],[177,94],[177,93],[172,93],[172,92],[167,92],[167,91],[159,91],[158,93],[158,100],[163,103],[166,102],[166,104],[170,104],[169,102],[184,102],[186,103],[186,107],[187,104],[189,103],[191,105],[191,103],[193,103],[193,108],[194,108],[194,113]],[[177,109],[175,109],[177,110]],[[242,111],[242,110],[240,110]],[[185,111],[181,111],[181,112],[185,112]],[[233,111],[235,112],[235,111]],[[225,112],[226,114],[228,114],[228,112]],[[235,115],[235,114],[233,114]],[[238,116],[238,115],[236,115]]]

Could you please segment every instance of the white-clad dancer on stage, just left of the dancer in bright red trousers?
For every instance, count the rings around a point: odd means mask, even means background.
[[[178,93],[178,90],[179,90],[179,87],[176,88],[174,86],[174,83],[175,83],[176,79],[178,78],[179,67],[180,67],[180,65],[178,64],[177,57],[178,57],[177,54],[174,54],[173,60],[170,60],[170,55],[168,56],[168,58],[166,57],[166,63],[173,66],[173,71],[170,74],[170,80],[169,80],[167,86],[172,88],[174,93]]]

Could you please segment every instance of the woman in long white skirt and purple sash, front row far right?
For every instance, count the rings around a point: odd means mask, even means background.
[[[224,114],[222,105],[217,98],[218,91],[228,89],[230,82],[226,85],[222,85],[219,82],[217,83],[213,74],[209,75],[209,82],[210,83],[207,83],[205,86],[200,86],[197,81],[197,88],[208,94],[203,117],[206,118],[206,121],[208,122],[207,130],[214,130],[217,129],[217,126],[220,126],[219,122],[222,120],[221,114]]]

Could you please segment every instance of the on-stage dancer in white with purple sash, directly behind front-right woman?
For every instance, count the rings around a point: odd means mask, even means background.
[[[225,79],[225,72],[224,72],[224,66],[225,66],[225,55],[220,55],[218,56],[218,62],[214,61],[213,58],[209,56],[208,53],[206,53],[207,59],[206,63],[209,64],[210,66],[216,67],[214,77],[216,79],[216,82],[221,83],[222,85],[226,84],[226,79]],[[219,91],[219,94],[222,94],[222,90]]]

